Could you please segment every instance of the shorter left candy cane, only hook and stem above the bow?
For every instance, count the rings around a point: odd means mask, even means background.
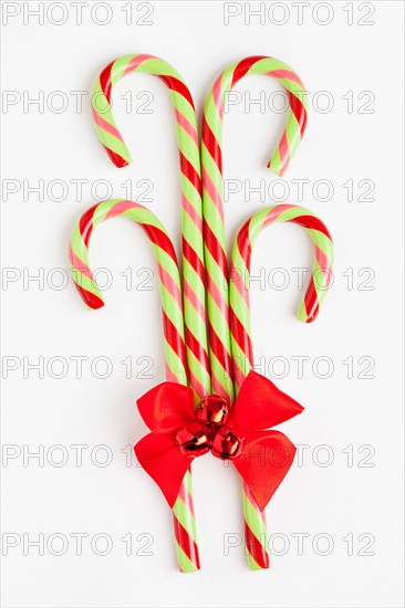
[[[187,384],[180,277],[172,241],[152,211],[128,200],[100,202],[81,217],[72,232],[69,260],[80,295],[90,308],[104,306],[89,265],[89,244],[94,228],[117,216],[128,218],[146,232],[157,262],[160,282],[167,379]]]

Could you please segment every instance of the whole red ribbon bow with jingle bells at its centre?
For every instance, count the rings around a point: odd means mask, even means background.
[[[231,411],[216,395],[206,396],[196,410],[193,390],[175,382],[153,388],[137,406],[152,432],[136,443],[135,454],[170,507],[191,461],[211,451],[232,461],[261,511],[295,454],[295,447],[282,432],[266,429],[303,410],[255,371],[245,379]]]

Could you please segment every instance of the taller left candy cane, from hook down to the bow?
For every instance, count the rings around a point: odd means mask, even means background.
[[[114,120],[112,90],[122,77],[132,72],[158,76],[169,90],[176,114],[183,202],[186,355],[190,386],[198,402],[199,398],[209,392],[210,378],[205,312],[200,157],[194,102],[180,74],[162,59],[135,54],[110,63],[95,83],[92,107],[98,138],[117,167],[128,165],[131,155]]]

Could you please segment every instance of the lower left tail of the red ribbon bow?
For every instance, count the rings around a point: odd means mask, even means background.
[[[157,483],[173,509],[194,458],[183,455],[170,436],[154,432],[141,439],[134,450],[141,467]]]

